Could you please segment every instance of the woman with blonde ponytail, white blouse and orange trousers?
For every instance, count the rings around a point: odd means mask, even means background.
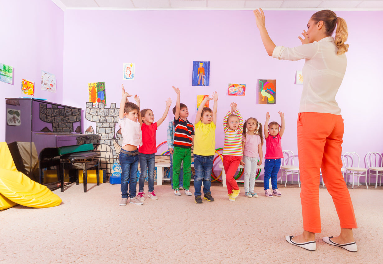
[[[331,10],[318,11],[309,19],[303,38],[298,37],[302,45],[287,48],[276,46],[271,40],[262,9],[254,10],[254,15],[269,56],[279,60],[305,59],[297,122],[303,233],[286,236],[286,240],[304,249],[316,249],[315,233],[321,233],[319,170],[322,170],[340,221],[340,235],[323,237],[322,240],[355,252],[357,245],[352,229],[357,228],[357,223],[341,173],[344,123],[335,100],[347,66],[347,24]],[[334,31],[335,38],[332,37]]]

